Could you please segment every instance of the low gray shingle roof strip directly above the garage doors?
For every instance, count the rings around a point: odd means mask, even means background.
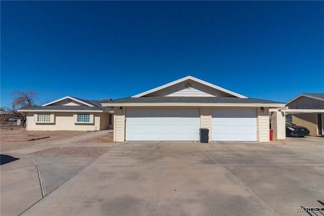
[[[238,97],[125,97],[104,103],[284,103],[271,100]]]

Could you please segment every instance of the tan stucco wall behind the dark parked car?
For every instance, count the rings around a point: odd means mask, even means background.
[[[309,133],[317,135],[317,113],[293,114],[293,123],[298,126],[306,127]]]

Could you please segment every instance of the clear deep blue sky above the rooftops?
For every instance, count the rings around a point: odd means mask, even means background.
[[[322,1],[1,1],[1,106],[128,97],[187,75],[287,102],[324,92]]]

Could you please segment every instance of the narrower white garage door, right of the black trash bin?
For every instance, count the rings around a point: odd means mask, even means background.
[[[212,128],[215,141],[256,141],[256,110],[213,109]]]

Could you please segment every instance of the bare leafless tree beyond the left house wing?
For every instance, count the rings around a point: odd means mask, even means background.
[[[37,93],[33,90],[27,91],[15,91],[11,93],[14,96],[12,101],[12,111],[9,118],[19,117],[22,120],[22,125],[26,123],[27,114],[25,112],[17,112],[17,109],[25,109],[35,105],[35,99],[37,99]]]

